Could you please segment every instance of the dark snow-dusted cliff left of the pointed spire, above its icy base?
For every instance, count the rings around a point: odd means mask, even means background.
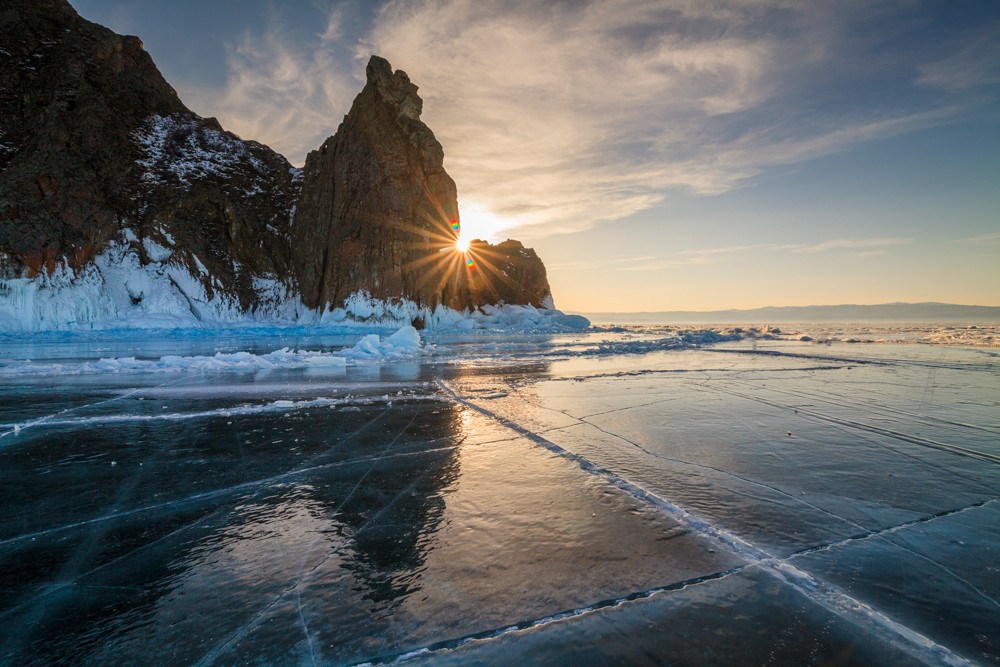
[[[215,279],[209,294],[244,308],[254,306],[252,276],[289,275],[298,187],[283,157],[187,109],[137,38],[64,0],[5,6],[0,271],[78,268],[127,228],[183,248],[175,261],[196,275],[197,257]]]

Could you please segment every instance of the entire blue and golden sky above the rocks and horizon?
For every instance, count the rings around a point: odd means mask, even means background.
[[[1000,305],[996,0],[71,0],[293,164],[369,56],[575,312]]]

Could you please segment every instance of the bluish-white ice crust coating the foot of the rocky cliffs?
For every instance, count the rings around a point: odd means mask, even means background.
[[[169,235],[165,238],[169,243]],[[143,254],[149,261],[143,261]],[[224,290],[213,289],[202,266],[188,250],[140,240],[126,231],[81,269],[59,263],[51,273],[35,278],[0,281],[0,332],[411,325],[454,331],[567,331],[590,324],[554,308],[486,305],[456,311],[407,299],[374,299],[366,293],[351,295],[343,308],[320,312],[303,305],[294,286],[268,275],[252,276],[257,305],[246,310]]]

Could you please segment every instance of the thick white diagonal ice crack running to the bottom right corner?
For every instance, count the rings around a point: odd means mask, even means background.
[[[816,602],[849,622],[861,627],[870,627],[872,630],[878,631],[887,641],[890,641],[901,649],[911,653],[914,657],[933,664],[941,665],[973,664],[966,658],[953,652],[951,649],[934,642],[932,639],[917,632],[916,630],[898,623],[878,609],[851,597],[836,586],[820,581],[811,574],[798,569],[791,563],[786,562],[784,559],[773,556],[739,536],[712,525],[708,521],[692,514],[683,507],[660,498],[656,494],[628,481],[620,475],[597,466],[586,457],[564,449],[560,445],[557,445],[551,440],[524,428],[520,424],[473,403],[471,400],[461,396],[443,380],[436,380],[436,382],[442,391],[451,396],[456,403],[471,408],[489,417],[490,419],[499,422],[500,424],[517,433],[520,433],[528,440],[531,440],[553,453],[575,461],[585,472],[600,477],[633,497],[658,507],[685,528],[688,528],[692,532],[701,535],[711,542],[715,542],[716,544],[729,549],[736,555],[748,561],[748,565],[759,566],[763,572],[771,574],[808,599]]]

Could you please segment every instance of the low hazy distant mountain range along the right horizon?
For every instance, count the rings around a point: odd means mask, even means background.
[[[953,303],[768,306],[749,310],[584,313],[595,324],[769,324],[775,322],[1000,322],[1000,306]]]

